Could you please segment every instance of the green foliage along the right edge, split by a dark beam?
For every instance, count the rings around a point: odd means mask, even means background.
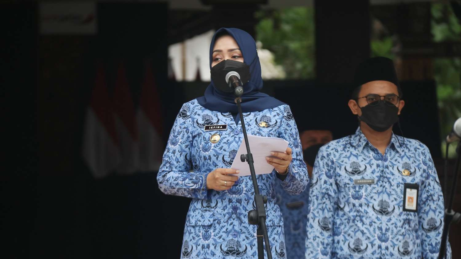
[[[434,41],[461,41],[461,24],[449,5],[433,3],[431,14]],[[434,78],[437,83],[440,137],[443,142],[455,120],[461,117],[461,59],[434,59]],[[444,156],[445,143],[442,143],[442,153]],[[449,152],[449,157],[455,157],[454,148]]]

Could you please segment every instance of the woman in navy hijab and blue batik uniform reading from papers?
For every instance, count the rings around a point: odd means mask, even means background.
[[[268,158],[274,170],[257,176],[260,193],[268,198],[266,224],[273,258],[286,258],[284,222],[273,187],[280,181],[287,193],[301,193],[308,184],[307,168],[290,107],[259,92],[263,84],[260,61],[247,32],[221,28],[213,35],[212,82],[204,96],[185,103],[179,111],[157,175],[159,188],[165,194],[193,199],[181,258],[257,257],[256,226],[247,220],[255,206],[251,177],[227,175],[238,175],[230,167],[243,140],[235,97],[224,81],[228,69],[238,71],[244,82],[242,110],[248,134],[290,142],[286,152]],[[209,125],[220,126],[205,130]],[[214,130],[221,126],[225,130]]]

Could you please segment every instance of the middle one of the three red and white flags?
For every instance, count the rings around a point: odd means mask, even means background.
[[[117,172],[131,174],[139,170],[138,130],[135,106],[123,64],[118,67],[113,103],[115,125],[122,154],[122,161],[117,167]]]

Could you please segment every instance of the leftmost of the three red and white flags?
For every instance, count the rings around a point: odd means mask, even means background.
[[[95,178],[106,177],[120,163],[112,103],[101,65],[86,112],[82,153]]]

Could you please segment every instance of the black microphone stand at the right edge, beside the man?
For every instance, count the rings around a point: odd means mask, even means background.
[[[449,145],[449,143],[447,143]],[[456,159],[455,173],[453,174],[453,183],[451,185],[450,199],[447,203],[448,207],[445,209],[445,215],[443,217],[443,232],[442,232],[442,241],[440,242],[440,251],[438,253],[438,259],[444,259],[447,248],[447,239],[448,239],[448,230],[452,221],[459,223],[461,221],[461,214],[459,212],[454,212],[451,208],[453,207],[453,201],[456,193],[456,182],[458,180],[458,173],[460,171],[460,162],[461,162],[461,141],[456,147],[456,153],[458,153],[458,158]],[[448,158],[448,148],[446,153],[446,158]],[[445,168],[446,170],[446,168]],[[446,174],[445,174],[446,175]],[[444,182],[447,179],[443,180]]]

